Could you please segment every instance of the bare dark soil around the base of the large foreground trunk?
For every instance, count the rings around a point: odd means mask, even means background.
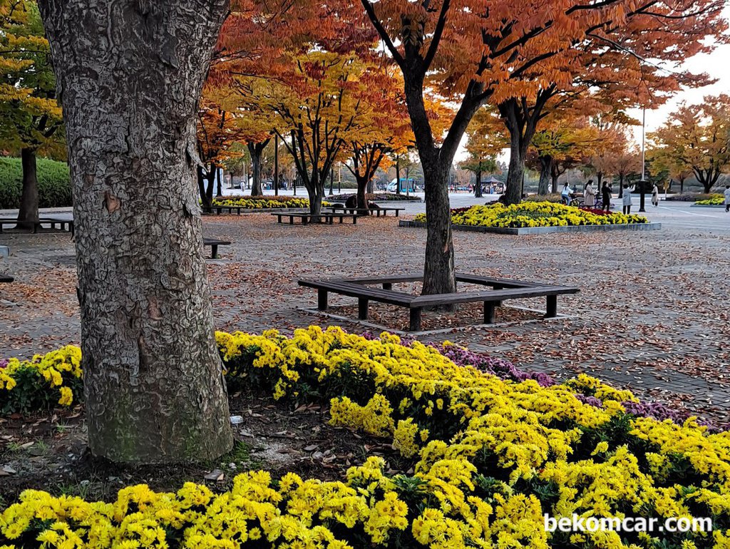
[[[234,421],[240,421],[233,426],[233,450],[216,461],[185,466],[120,467],[95,458],[87,447],[82,407],[0,418],[0,510],[26,489],[112,501],[120,488],[137,483],[177,491],[191,481],[226,491],[238,473],[251,469],[266,469],[274,477],[296,472],[344,480],[347,468],[368,456],[383,456],[393,472],[410,467],[386,439],[330,426],[326,405],[237,392],[230,407]]]

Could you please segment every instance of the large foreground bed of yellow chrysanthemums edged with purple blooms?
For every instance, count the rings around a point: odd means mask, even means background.
[[[449,344],[318,327],[217,338],[229,379],[328,401],[331,423],[391,439],[412,474],[371,457],[345,482],[250,472],[218,495],[192,483],[124,488],[110,504],[26,491],[0,515],[0,545],[729,547],[729,432],[639,417],[628,391],[584,375],[554,383]],[[549,534],[545,513],[710,517],[714,531]]]

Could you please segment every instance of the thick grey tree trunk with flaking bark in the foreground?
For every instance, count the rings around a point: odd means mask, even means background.
[[[193,181],[197,99],[226,0],[39,0],[64,109],[91,451],[231,448]]]

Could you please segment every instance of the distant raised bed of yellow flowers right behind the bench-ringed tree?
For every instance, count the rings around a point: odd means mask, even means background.
[[[425,223],[426,215],[416,215],[415,221]],[[527,227],[629,225],[648,223],[648,219],[642,215],[623,215],[618,212],[599,214],[552,202],[523,202],[511,206],[491,204],[473,206],[466,210],[453,210],[451,222],[456,226],[522,229]]]

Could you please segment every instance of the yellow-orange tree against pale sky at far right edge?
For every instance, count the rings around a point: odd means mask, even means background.
[[[691,169],[709,193],[730,164],[730,96],[707,96],[702,104],[681,104],[650,141],[661,148],[675,173]]]

